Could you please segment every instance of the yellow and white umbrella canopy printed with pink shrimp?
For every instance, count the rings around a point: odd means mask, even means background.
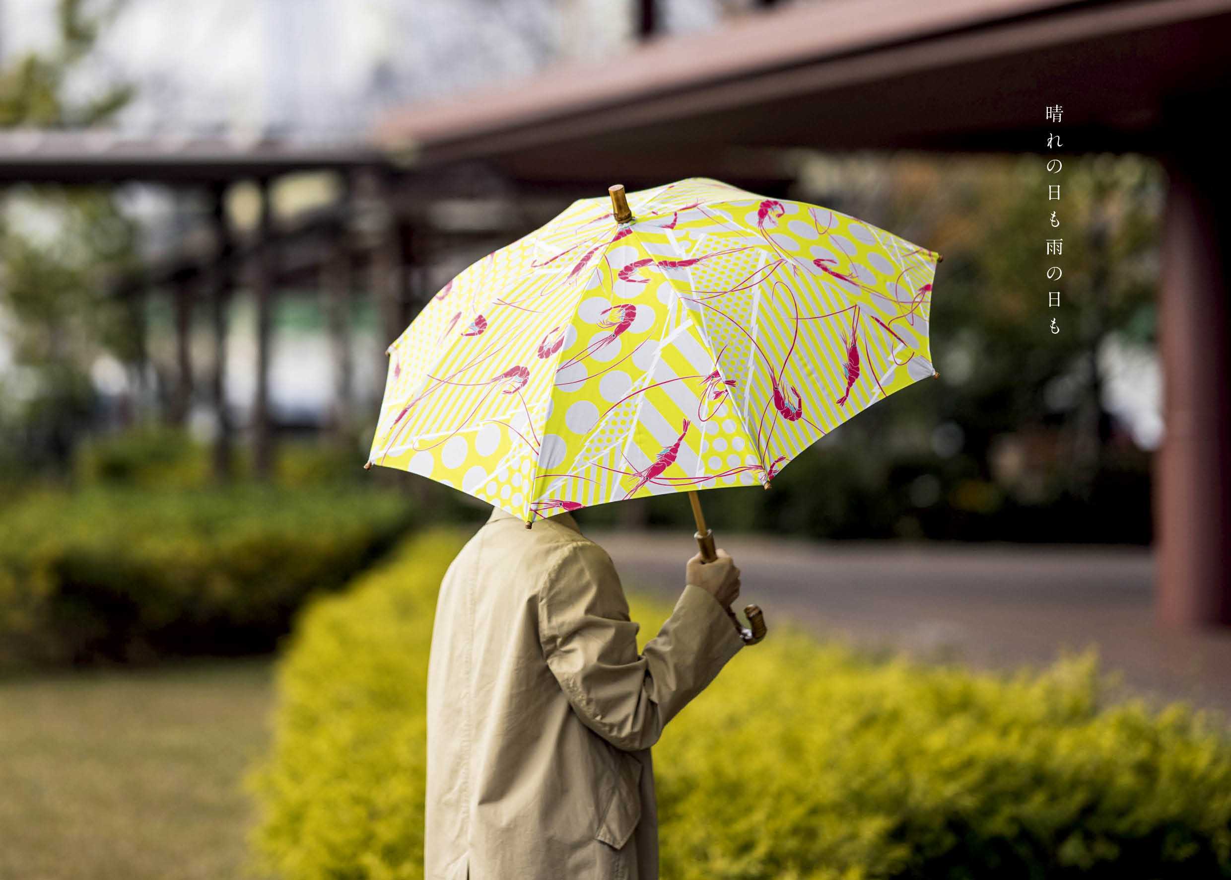
[[[713,180],[581,199],[474,263],[389,347],[369,464],[532,522],[764,485],[934,375],[939,255]]]

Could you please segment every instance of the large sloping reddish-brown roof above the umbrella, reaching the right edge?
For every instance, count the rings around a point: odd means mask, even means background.
[[[1075,140],[1149,149],[1168,96],[1231,69],[1226,46],[1231,0],[830,0],[409,106],[375,130],[419,165],[604,180],[732,148],[1027,151],[1056,103]]]

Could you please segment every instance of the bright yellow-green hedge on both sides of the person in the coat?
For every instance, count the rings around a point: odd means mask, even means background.
[[[422,537],[300,619],[254,844],[283,880],[422,875],[433,597]],[[634,602],[656,630],[665,609]],[[1092,658],[1014,676],[872,658],[782,629],[655,750],[670,880],[1231,876],[1231,740],[1107,702]]]

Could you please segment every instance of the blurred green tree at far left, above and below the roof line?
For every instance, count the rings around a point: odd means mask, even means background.
[[[0,69],[0,126],[94,126],[123,107],[132,95],[123,84],[70,87],[114,10],[60,0],[57,44]],[[0,319],[12,359],[0,375],[0,458],[22,464],[2,468],[10,479],[48,465],[66,473],[95,405],[87,370],[100,352],[142,359],[137,304],[102,299],[97,283],[132,250],[132,226],[107,191],[18,186],[0,194]]]

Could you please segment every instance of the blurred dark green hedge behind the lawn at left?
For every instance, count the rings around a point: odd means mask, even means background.
[[[0,511],[0,666],[268,651],[409,522],[327,486],[27,496]]]

